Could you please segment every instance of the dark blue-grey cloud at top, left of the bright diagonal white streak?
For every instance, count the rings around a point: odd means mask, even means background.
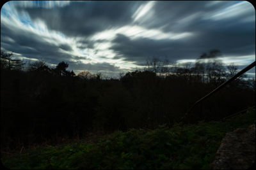
[[[33,19],[43,20],[49,29],[67,36],[91,36],[132,21],[140,1],[82,1],[62,8],[19,8]]]

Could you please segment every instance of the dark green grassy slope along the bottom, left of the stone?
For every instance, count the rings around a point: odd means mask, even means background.
[[[116,131],[96,143],[42,146],[2,157],[10,169],[209,169],[221,139],[255,124],[255,110],[226,122]]]

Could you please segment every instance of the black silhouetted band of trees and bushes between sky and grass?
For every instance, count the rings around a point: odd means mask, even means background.
[[[24,63],[1,52],[1,148],[85,138],[88,132],[154,129],[179,122],[196,100],[237,73],[224,66],[218,50],[195,64],[152,59],[143,70],[102,79],[102,74]],[[219,120],[255,105],[255,79],[237,78],[189,115],[189,123]]]

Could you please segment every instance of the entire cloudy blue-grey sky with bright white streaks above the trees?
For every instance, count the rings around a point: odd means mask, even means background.
[[[26,62],[116,76],[153,58],[195,62],[218,49],[239,69],[255,60],[248,1],[8,1],[1,50]],[[255,69],[248,75],[255,77]]]

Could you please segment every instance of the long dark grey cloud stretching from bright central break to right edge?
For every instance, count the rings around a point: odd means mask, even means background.
[[[118,36],[112,47],[118,53],[116,58],[143,62],[147,57],[168,55],[170,60],[195,59],[202,52],[212,49],[220,50],[223,55],[252,55],[255,54],[255,23],[237,23],[233,20],[211,22],[204,21],[195,25],[191,38],[177,40],[152,40],[146,38],[131,40]],[[191,26],[193,27],[193,26]],[[190,29],[191,29],[190,27]]]

